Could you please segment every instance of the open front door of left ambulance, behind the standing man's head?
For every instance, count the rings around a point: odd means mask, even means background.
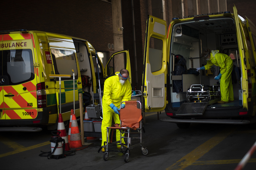
[[[118,51],[110,57],[105,66],[105,78],[115,75],[115,72],[124,68],[129,71],[129,81],[132,83],[131,62],[128,50]]]

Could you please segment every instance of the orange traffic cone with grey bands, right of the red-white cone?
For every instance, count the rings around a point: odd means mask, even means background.
[[[76,120],[76,115],[72,115],[72,124],[71,124],[71,134],[70,134],[70,145],[71,148],[75,148],[76,150],[81,150],[86,147],[83,147],[80,131],[78,128],[78,123]]]

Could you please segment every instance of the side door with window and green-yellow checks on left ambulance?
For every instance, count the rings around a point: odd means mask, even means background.
[[[63,120],[69,120],[70,111],[74,108],[73,72],[75,73],[75,110],[79,115],[79,93],[82,93],[80,71],[74,41],[70,37],[46,33],[52,58],[53,73],[55,75],[70,75],[70,78],[61,78],[61,113]],[[47,75],[49,76],[49,75]],[[59,78],[56,78],[56,97],[59,106]],[[58,107],[58,109],[60,106]]]

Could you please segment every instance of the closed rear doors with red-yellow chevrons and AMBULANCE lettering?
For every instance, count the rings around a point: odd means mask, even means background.
[[[32,35],[27,32],[8,33],[1,35],[0,39],[0,120],[35,119],[37,73]]]

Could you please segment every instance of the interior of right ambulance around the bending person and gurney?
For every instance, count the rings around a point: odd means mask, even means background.
[[[196,72],[196,68],[206,65],[206,60],[201,58],[202,51],[206,48],[219,50],[219,52],[229,55],[233,60],[232,84],[234,98],[239,105],[242,104],[238,100],[241,96],[241,64],[238,56],[236,28],[232,18],[192,20],[177,23],[173,26],[170,43],[169,62],[170,75],[172,75],[170,94],[173,107],[179,107],[183,102],[190,102],[186,94],[192,84],[201,84],[204,90],[207,87],[217,88],[216,91],[219,90],[219,82],[214,79],[219,74],[219,67],[213,65],[210,70],[200,70],[200,74]],[[185,64],[179,62],[182,56],[185,59],[182,62]],[[183,65],[185,65],[186,71],[176,70]],[[220,98],[220,92],[218,95],[217,98]],[[235,104],[237,105],[237,103]]]

